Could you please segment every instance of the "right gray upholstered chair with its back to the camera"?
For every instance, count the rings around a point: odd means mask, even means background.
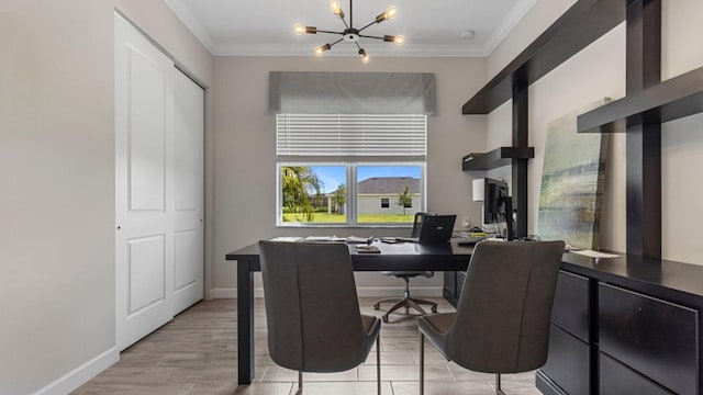
[[[562,241],[481,241],[476,245],[456,313],[421,317],[420,394],[424,338],[449,361],[495,373],[535,370],[547,361],[549,318]]]

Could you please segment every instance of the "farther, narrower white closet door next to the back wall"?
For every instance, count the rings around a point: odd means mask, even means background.
[[[174,78],[174,315],[203,297],[203,90]]]

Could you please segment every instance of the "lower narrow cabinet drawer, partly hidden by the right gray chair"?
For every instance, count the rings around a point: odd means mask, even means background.
[[[565,393],[589,395],[591,393],[591,347],[551,325],[549,356],[540,371]]]

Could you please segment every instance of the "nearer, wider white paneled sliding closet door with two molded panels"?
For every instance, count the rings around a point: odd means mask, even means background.
[[[174,65],[115,14],[116,341],[172,318]]]

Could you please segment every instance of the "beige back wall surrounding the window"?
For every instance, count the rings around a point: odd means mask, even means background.
[[[376,57],[364,67],[349,57],[217,57],[213,84],[213,295],[234,295],[236,264],[225,261],[225,253],[261,238],[392,236],[410,232],[276,228],[275,119],[267,115],[268,72],[272,70],[434,72],[437,116],[428,117],[427,125],[427,210],[456,213],[458,218],[480,218],[480,205],[470,202],[471,179],[461,171],[461,158],[486,148],[486,121],[484,116],[461,115],[461,105],[469,92],[486,83],[486,59]],[[460,219],[458,223],[460,226]],[[438,291],[442,275],[413,283]],[[379,286],[401,286],[402,282],[378,273],[358,273],[357,285],[365,293]]]

